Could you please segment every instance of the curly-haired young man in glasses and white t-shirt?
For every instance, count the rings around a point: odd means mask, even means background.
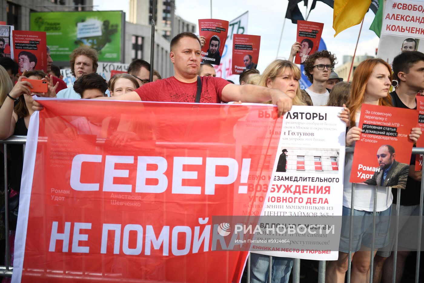
[[[310,95],[314,106],[326,105],[329,91],[325,88],[326,82],[334,69],[337,58],[331,52],[323,50],[310,55],[305,63],[305,75],[312,85],[305,89]]]

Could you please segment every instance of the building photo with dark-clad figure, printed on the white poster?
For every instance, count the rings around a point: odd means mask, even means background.
[[[280,152],[276,169],[278,173],[338,174],[338,148],[287,147]]]

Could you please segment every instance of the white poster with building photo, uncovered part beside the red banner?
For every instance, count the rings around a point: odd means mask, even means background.
[[[260,220],[265,233],[256,235],[251,252],[311,260],[338,258],[346,135],[346,124],[337,116],[340,110],[293,106],[284,115]]]

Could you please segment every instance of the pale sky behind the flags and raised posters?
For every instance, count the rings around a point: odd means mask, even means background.
[[[249,11],[248,34],[261,36],[258,67],[260,71],[263,71],[268,62],[276,58],[287,3],[287,0],[212,0],[212,17],[231,21],[245,11]],[[126,12],[128,20],[129,0],[120,0],[119,2],[94,0],[93,5],[97,5],[94,8],[100,11],[122,9]],[[303,2],[299,4],[299,7],[305,16],[306,9]],[[210,12],[210,0],[176,0],[176,14],[189,22],[197,24],[198,19],[208,19]],[[338,65],[343,63],[343,55],[353,55],[360,25],[348,28],[334,37],[335,31],[332,28],[333,9],[320,1],[311,11],[308,20],[324,23],[322,38],[326,42],[327,49],[338,57]],[[357,55],[375,56],[379,38],[374,31],[369,30],[373,20],[374,13],[370,10],[365,15]],[[295,40],[296,24],[286,20],[278,57],[287,58]]]

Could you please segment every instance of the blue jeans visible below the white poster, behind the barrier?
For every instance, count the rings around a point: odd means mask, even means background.
[[[269,256],[250,253],[250,283],[268,282]],[[268,283],[289,282],[293,258],[272,257],[271,278]]]

